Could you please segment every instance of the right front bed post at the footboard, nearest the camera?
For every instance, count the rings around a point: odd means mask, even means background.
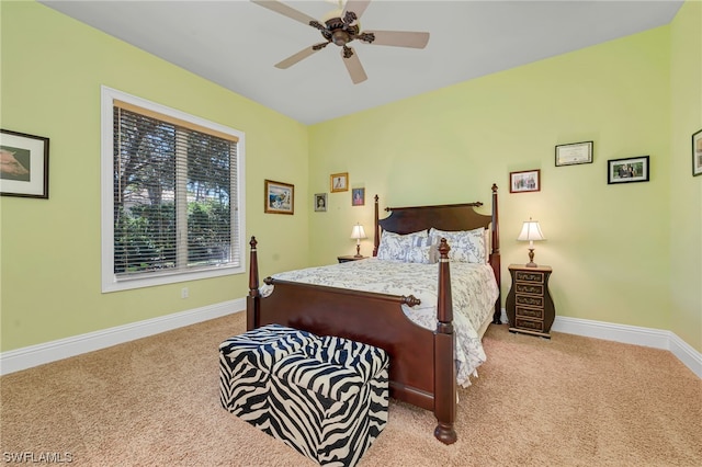
[[[456,420],[455,334],[453,333],[453,300],[449,244],[442,238],[439,244],[439,301],[437,304],[437,332],[434,332],[434,436],[444,444],[457,440],[453,424]]]

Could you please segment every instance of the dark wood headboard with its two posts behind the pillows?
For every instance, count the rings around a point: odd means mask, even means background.
[[[409,207],[386,207],[390,214],[381,219],[378,196],[375,195],[375,239],[373,255],[377,255],[377,248],[381,244],[383,230],[406,235],[419,230],[427,230],[431,227],[439,230],[472,230],[478,227],[490,229],[490,253],[489,263],[492,266],[498,289],[500,281],[500,238],[499,217],[497,209],[497,185],[492,184],[492,212],[489,215],[479,214],[476,207],[483,203],[443,204],[435,206],[409,206]],[[451,246],[449,246],[451,247]],[[495,316],[492,322],[499,323],[501,315],[501,299],[497,298],[495,304]]]

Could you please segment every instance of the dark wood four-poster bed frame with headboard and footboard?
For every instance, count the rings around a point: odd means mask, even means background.
[[[499,224],[497,185],[492,185],[492,213],[483,215],[475,207],[483,203],[440,206],[401,207],[385,210],[378,218],[375,196],[375,248],[382,230],[410,234],[434,227],[440,230],[469,230],[491,227],[491,265],[500,285]],[[390,397],[433,411],[438,425],[434,436],[444,444],[457,438],[454,430],[456,414],[455,335],[451,299],[450,266],[445,242],[440,247],[439,300],[435,331],[415,324],[405,316],[401,305],[419,303],[414,296],[394,296],[346,288],[301,284],[267,277],[274,285],[273,293],[259,293],[257,241],[250,241],[249,296],[247,297],[247,330],[269,323],[303,329],[318,335],[338,335],[388,352],[390,357]],[[449,246],[450,247],[450,246]],[[495,303],[492,323],[500,323],[500,297]]]

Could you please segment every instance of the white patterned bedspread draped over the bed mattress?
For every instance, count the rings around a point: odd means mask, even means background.
[[[405,315],[417,324],[437,329],[439,264],[400,263],[375,258],[320,267],[273,274],[273,277],[389,295],[414,295],[421,300],[415,307],[403,305]],[[261,294],[271,293],[261,287]],[[477,330],[492,316],[498,289],[492,269],[487,264],[451,263],[453,326],[456,334],[457,383],[469,386],[469,376],[485,360]]]

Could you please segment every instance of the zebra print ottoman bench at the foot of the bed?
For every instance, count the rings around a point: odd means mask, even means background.
[[[219,345],[222,406],[320,465],[353,466],[387,423],[385,351],[269,324]]]

